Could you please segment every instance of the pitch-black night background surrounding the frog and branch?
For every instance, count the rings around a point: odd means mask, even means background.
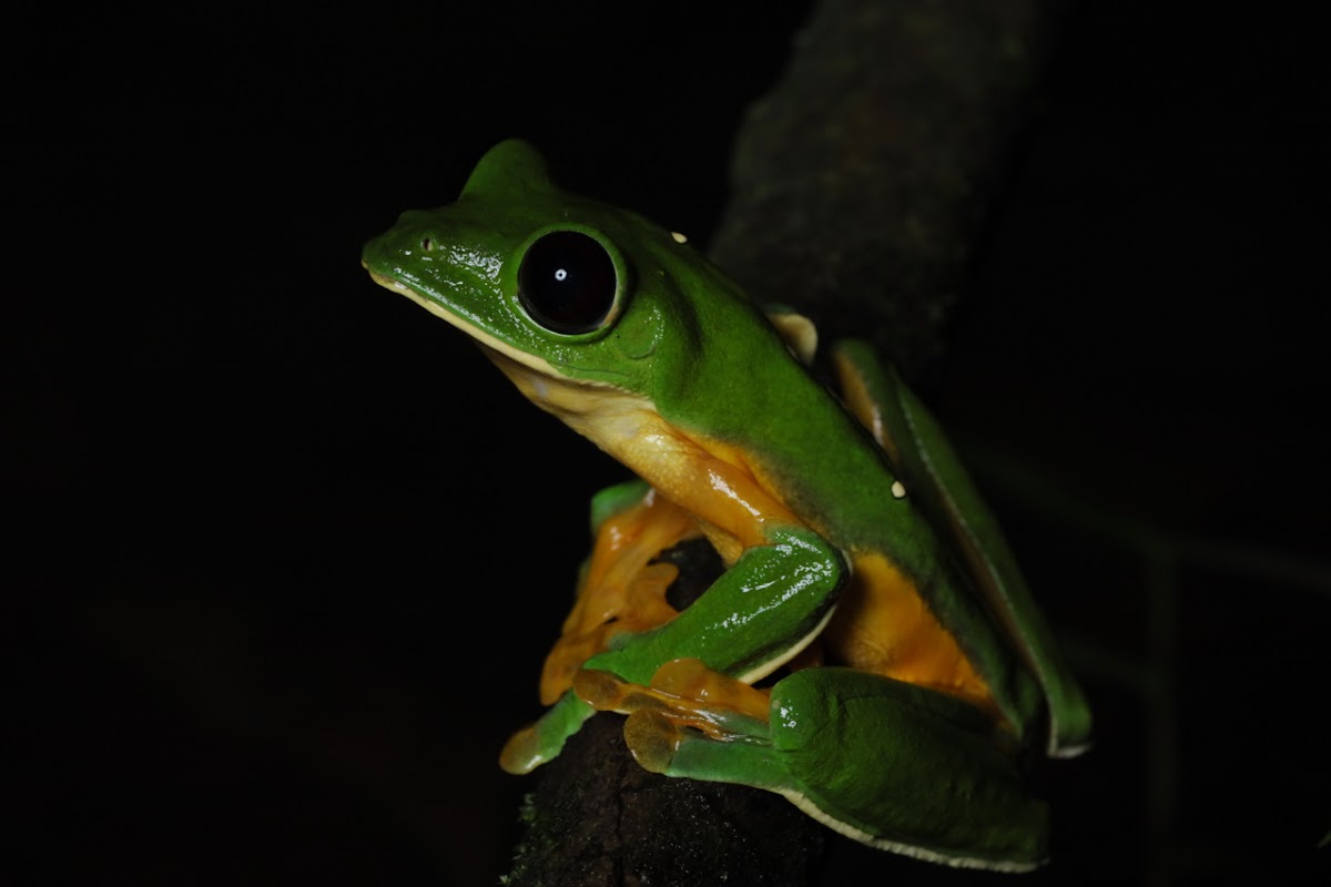
[[[494,759],[623,475],[361,245],[508,136],[705,243],[805,11],[8,13],[7,882],[494,883],[530,785]],[[1288,15],[1074,7],[928,392],[1097,707],[1033,880],[1327,871],[1327,81]]]

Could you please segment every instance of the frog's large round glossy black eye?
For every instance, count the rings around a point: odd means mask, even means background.
[[[606,247],[579,231],[546,234],[518,269],[518,301],[554,332],[591,332],[615,305],[615,263]]]

